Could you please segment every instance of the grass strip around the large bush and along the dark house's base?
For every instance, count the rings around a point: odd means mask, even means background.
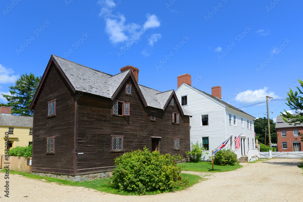
[[[2,169],[1,172],[5,173],[5,169]],[[71,182],[71,181],[68,181],[68,180],[61,180],[61,179],[57,179],[57,178],[54,178],[54,177],[43,177],[43,176],[38,176],[38,175],[33,175],[33,174],[28,174],[28,173],[21,173],[21,172],[17,172],[17,171],[9,171],[9,174],[18,174],[18,175],[22,175],[24,177],[35,179],[35,180],[43,180],[45,182],[55,182],[59,185],[86,187],[86,188],[95,189],[95,190],[98,190],[98,191],[103,191],[103,192],[111,193],[111,194],[135,195],[132,192],[116,190],[115,188],[111,187],[108,184],[108,182],[105,180],[105,178],[97,179],[97,180],[91,180],[91,181],[85,181],[85,182]],[[204,178],[202,178],[198,175],[181,173],[181,176],[182,177],[187,177],[188,184],[187,184],[186,187],[185,186],[181,187],[178,190],[186,189],[187,187],[191,187],[194,184],[197,184],[198,182],[200,182],[202,180],[205,180]],[[110,178],[106,178],[106,179],[110,181]],[[165,191],[165,192],[172,192],[172,191],[177,191],[177,190],[170,190],[170,191]],[[164,192],[153,191],[153,192],[147,192],[146,195],[155,195],[155,194],[160,194],[160,193],[164,193]]]

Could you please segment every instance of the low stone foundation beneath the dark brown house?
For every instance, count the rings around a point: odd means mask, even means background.
[[[45,177],[55,177],[62,180],[68,180],[72,182],[83,182],[88,180],[101,179],[105,177],[111,177],[112,171],[101,172],[101,173],[91,173],[84,175],[64,175],[64,174],[54,174],[54,173],[42,173],[42,172],[32,172],[34,175],[45,176]]]

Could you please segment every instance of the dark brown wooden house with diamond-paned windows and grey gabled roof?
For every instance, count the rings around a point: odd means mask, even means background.
[[[138,68],[108,75],[52,55],[31,103],[32,172],[84,181],[104,177],[114,159],[143,149],[190,150],[189,117],[175,91],[138,84]]]

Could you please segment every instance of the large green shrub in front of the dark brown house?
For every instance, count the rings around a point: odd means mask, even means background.
[[[115,169],[111,185],[119,190],[145,194],[150,191],[163,192],[186,186],[188,180],[181,177],[181,167],[177,167],[180,155],[162,155],[158,151],[132,151],[115,159]]]

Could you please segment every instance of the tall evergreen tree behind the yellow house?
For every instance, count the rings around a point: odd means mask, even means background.
[[[6,106],[12,107],[12,114],[22,116],[32,116],[33,111],[29,110],[29,105],[38,88],[40,77],[35,77],[33,73],[21,75],[15,82],[15,86],[10,86],[10,93],[12,95],[2,94],[7,100]]]

